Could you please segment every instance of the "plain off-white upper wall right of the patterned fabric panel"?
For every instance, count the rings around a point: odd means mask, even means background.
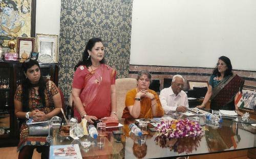
[[[134,0],[134,65],[214,67],[230,58],[234,69],[254,70],[254,0]]]

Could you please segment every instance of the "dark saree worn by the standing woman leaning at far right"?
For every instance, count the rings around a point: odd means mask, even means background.
[[[242,90],[244,80],[237,74],[224,77],[212,88],[211,110],[234,110],[234,96]]]

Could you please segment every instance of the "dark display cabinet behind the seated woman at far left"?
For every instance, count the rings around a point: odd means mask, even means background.
[[[14,93],[20,84],[19,62],[0,62],[0,147],[16,146],[18,123],[14,114]],[[41,75],[58,86],[58,65],[40,64]]]

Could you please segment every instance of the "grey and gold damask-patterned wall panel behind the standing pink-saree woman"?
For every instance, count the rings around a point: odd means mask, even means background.
[[[105,59],[117,78],[129,76],[132,5],[133,0],[61,0],[59,87],[66,99],[73,68],[90,38],[103,40]]]

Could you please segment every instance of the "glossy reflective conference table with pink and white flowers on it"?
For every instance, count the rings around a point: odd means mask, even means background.
[[[193,120],[193,116],[188,117],[180,113],[175,113],[170,117]],[[128,125],[136,121],[122,119],[119,122],[123,126],[106,129],[105,144],[101,149],[97,147],[96,141],[92,138],[90,138],[92,145],[89,148],[81,146],[80,141],[88,138],[87,136],[83,136],[79,140],[74,140],[69,136],[61,137],[58,128],[53,129],[51,145],[78,144],[83,158],[176,158],[182,156],[200,158],[200,156],[209,156],[209,154],[220,157],[223,152],[229,152],[226,156],[237,152],[234,155],[240,155],[240,157],[246,155],[247,157],[245,150],[256,148],[256,128],[251,126],[251,123],[256,123],[255,120],[243,121],[239,117],[236,120],[223,119],[219,125],[212,125],[204,116],[199,116],[199,118],[203,129],[203,135],[200,137],[156,142],[157,132],[151,131],[149,128],[153,126],[148,124],[146,142],[142,144],[138,142],[137,137],[129,136]],[[122,130],[123,134],[113,135],[112,130]]]

